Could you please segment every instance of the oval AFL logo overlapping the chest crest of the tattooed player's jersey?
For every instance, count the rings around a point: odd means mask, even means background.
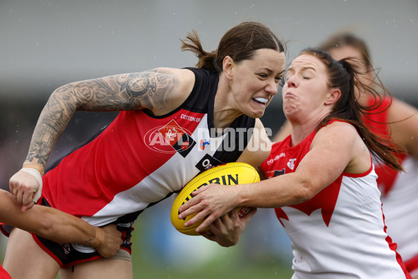
[[[186,157],[196,142],[192,133],[181,128],[171,120],[166,126],[153,128],[144,136],[144,142],[150,149],[159,153],[180,153]]]

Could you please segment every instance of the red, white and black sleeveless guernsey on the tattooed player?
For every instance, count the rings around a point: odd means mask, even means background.
[[[183,105],[164,116],[120,112],[43,176],[47,202],[92,225],[133,222],[199,172],[237,160],[255,119],[242,115],[225,133],[212,133],[219,77],[215,71],[189,69],[196,82]]]

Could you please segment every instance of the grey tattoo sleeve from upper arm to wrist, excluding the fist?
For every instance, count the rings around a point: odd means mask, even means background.
[[[77,110],[110,112],[169,107],[176,79],[167,70],[112,75],[56,89],[33,131],[26,163],[45,167],[49,153]]]

